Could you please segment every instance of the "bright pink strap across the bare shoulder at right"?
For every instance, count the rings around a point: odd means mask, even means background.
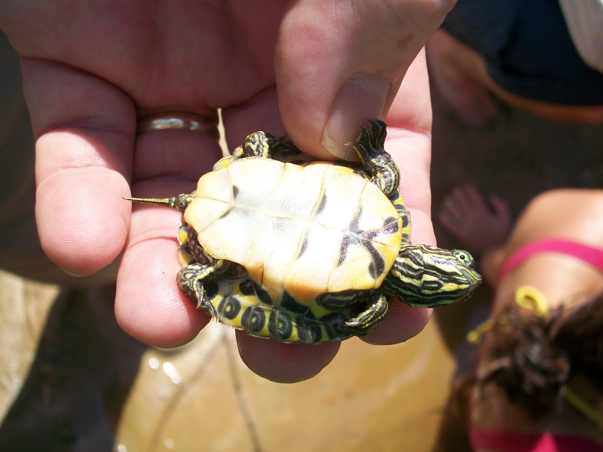
[[[507,276],[511,271],[525,262],[529,257],[540,253],[559,253],[575,257],[582,262],[589,263],[603,272],[603,250],[584,243],[573,242],[567,239],[544,239],[528,243],[516,250],[506,260],[498,274],[498,281]]]

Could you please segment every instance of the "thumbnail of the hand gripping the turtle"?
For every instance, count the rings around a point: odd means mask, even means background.
[[[383,115],[391,81],[368,74],[350,77],[335,96],[322,142],[327,151],[339,159],[356,160],[356,154],[346,143],[358,138],[356,125],[365,119]]]

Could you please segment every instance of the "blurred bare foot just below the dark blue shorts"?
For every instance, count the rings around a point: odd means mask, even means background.
[[[429,73],[456,115],[469,125],[486,125],[499,115],[496,102],[482,81],[483,58],[443,30],[426,45]]]

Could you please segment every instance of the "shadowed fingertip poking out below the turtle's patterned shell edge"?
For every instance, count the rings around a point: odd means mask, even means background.
[[[241,359],[260,377],[278,383],[308,380],[320,372],[339,350],[340,342],[325,344],[282,344],[272,339],[236,331]]]

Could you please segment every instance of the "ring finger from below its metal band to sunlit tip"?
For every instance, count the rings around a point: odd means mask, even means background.
[[[191,193],[198,178],[211,171],[220,156],[215,138],[205,133],[160,130],[141,134],[136,140],[133,195],[166,198]],[[147,204],[132,207],[130,234],[118,272],[116,318],[122,329],[146,344],[183,344],[210,318],[196,309],[197,303],[186,298],[177,284],[180,213]]]

